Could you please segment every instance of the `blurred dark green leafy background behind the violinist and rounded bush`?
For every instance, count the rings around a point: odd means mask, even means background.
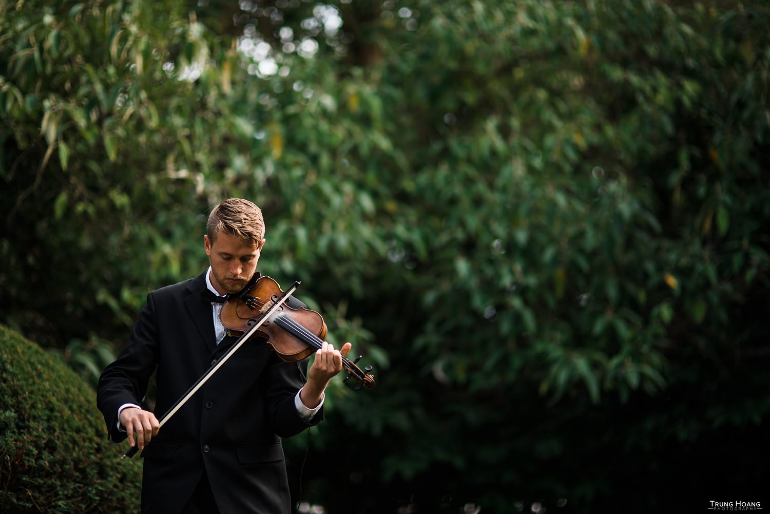
[[[728,0],[0,0],[0,323],[94,385],[246,197],[260,270],[377,376],[286,442],[298,512],[767,501],[768,28]]]

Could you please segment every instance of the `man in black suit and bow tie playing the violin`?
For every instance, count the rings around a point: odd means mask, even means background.
[[[109,437],[143,450],[146,514],[290,512],[281,438],[320,422],[323,391],[342,370],[350,343],[341,350],[323,343],[305,376],[309,359],[281,361],[263,339],[252,338],[162,429],[139,406],[156,368],[156,412],[163,413],[233,345],[213,295],[246,287],[264,233],[262,213],[248,200],[214,207],[203,236],[208,270],[148,294],[126,347],[102,371],[97,405]]]

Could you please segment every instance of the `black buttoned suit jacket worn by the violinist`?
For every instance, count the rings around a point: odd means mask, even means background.
[[[160,418],[232,346],[233,338],[216,345],[205,288],[204,272],[147,295],[126,347],[99,379],[97,405],[113,441],[127,437],[118,408],[140,403],[156,368]],[[303,419],[294,404],[307,362],[281,361],[264,339],[244,343],[142,452],[142,512],[179,512],[205,470],[221,512],[289,514],[281,438],[323,416]]]

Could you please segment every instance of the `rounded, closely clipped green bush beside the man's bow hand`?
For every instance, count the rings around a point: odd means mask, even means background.
[[[0,326],[0,510],[137,512],[141,463],[120,462],[95,394]]]

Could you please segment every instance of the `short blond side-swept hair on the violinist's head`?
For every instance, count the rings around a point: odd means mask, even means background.
[[[212,243],[220,233],[238,236],[246,244],[261,244],[265,237],[262,210],[242,198],[224,200],[211,210],[206,223],[206,235]]]

